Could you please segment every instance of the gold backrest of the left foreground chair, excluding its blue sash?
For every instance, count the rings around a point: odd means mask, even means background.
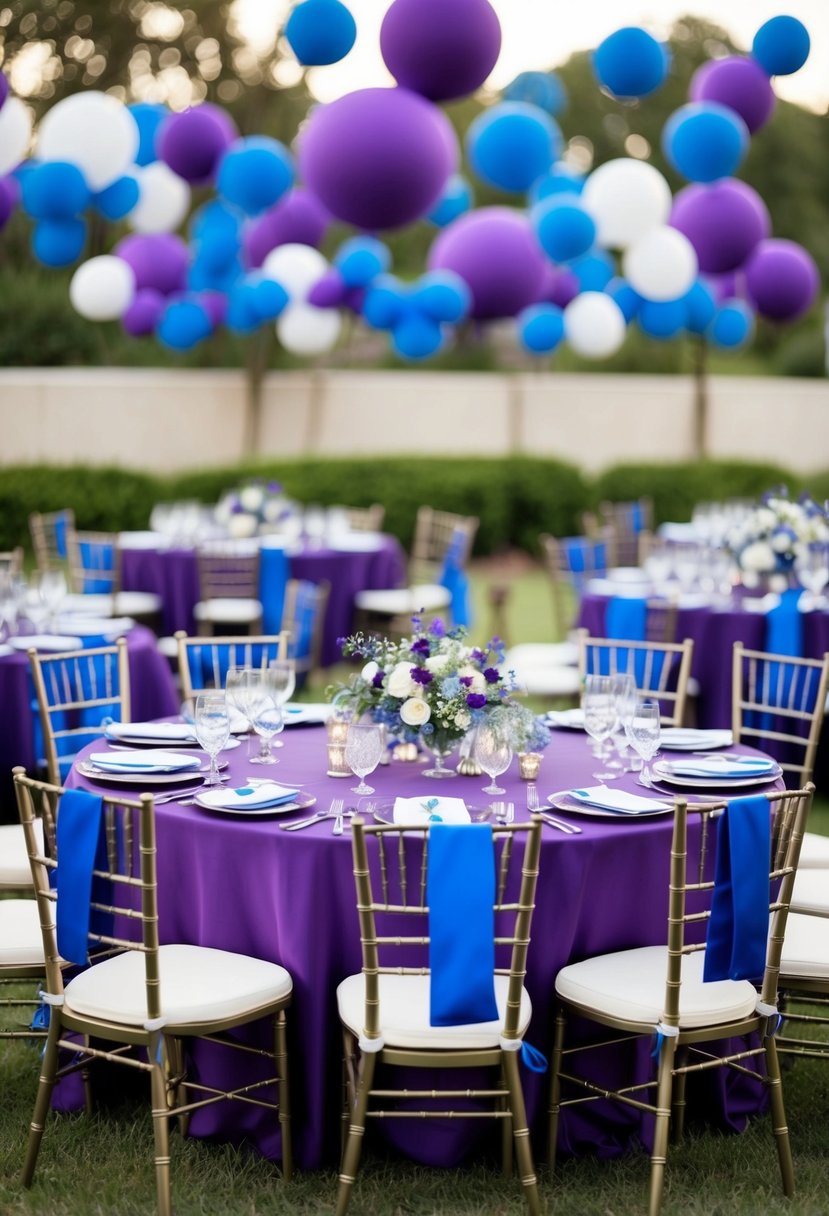
[[[46,957],[46,992],[63,996],[63,970],[57,950],[57,890],[60,865],[57,821],[60,783],[34,781],[15,769],[17,807],[32,862],[40,928]],[[156,814],[150,794],[137,800],[106,794],[103,834],[106,865],[96,857],[90,902],[90,950],[135,950],[143,955],[147,1018],[160,1017],[158,972],[158,900],[156,876]],[[36,831],[43,821],[43,837]],[[44,846],[45,838],[45,846]],[[103,896],[103,897],[102,897]],[[126,936],[126,934],[130,936]]]

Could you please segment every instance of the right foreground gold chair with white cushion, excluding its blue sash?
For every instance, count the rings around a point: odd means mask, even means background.
[[[665,1177],[669,1131],[682,1138],[686,1079],[711,1068],[745,1069],[752,1058],[765,1060],[774,1139],[786,1195],[794,1192],[791,1147],[783,1107],[783,1087],[774,1031],[778,1024],[778,968],[784,946],[789,901],[797,866],[803,824],[814,792],[772,792],[758,795],[768,801],[772,816],[769,868],[769,933],[760,991],[748,980],[704,983],[705,942],[700,925],[711,916],[714,883],[710,865],[716,854],[715,816],[724,803],[688,805],[677,798],[669,879],[666,945],[643,946],[586,958],[564,967],[556,979],[558,1013],[552,1057],[549,1162],[554,1167],[562,1109],[598,1097],[655,1118],[650,1156],[649,1216],[658,1216]],[[765,872],[766,858],[762,860]],[[565,1043],[570,1017],[599,1029],[590,1045],[583,1029],[577,1042]],[[610,1031],[610,1034],[609,1034]],[[598,1085],[590,1060],[592,1049],[624,1049],[624,1045],[656,1032],[658,1060],[647,1081],[622,1079],[613,1090]],[[709,1045],[757,1032],[761,1042],[741,1049],[724,1048],[716,1055]],[[633,1055],[635,1053],[631,1053]],[[585,1058],[587,1057],[587,1058]],[[631,1083],[627,1083],[627,1082]],[[655,1094],[653,1091],[656,1091]]]

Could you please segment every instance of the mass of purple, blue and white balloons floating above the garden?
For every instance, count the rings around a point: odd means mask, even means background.
[[[301,0],[284,27],[301,64],[342,60],[355,36],[340,0]],[[293,148],[241,135],[212,103],[173,113],[88,91],[46,113],[26,161],[29,109],[0,73],[0,227],[22,207],[35,257],[64,266],[83,254],[90,212],[125,225],[111,253],[78,266],[72,304],[175,350],[220,326],[248,334],[275,325],[288,350],[317,355],[350,313],[387,332],[404,359],[439,353],[467,320],[504,317],[532,354],[566,342],[602,359],[631,325],[728,348],[748,340],[756,314],[789,321],[810,308],[813,260],[772,237],[765,203],[735,176],[773,112],[769,78],[808,55],[799,21],[774,17],[751,55],[695,73],[662,133],[666,159],[688,182],[676,197],[641,159],[577,173],[557,123],[560,83],[525,72],[466,133],[470,174],[512,196],[475,208],[438,103],[478,89],[500,49],[490,0],[394,0],[380,50],[395,86],[315,107]],[[616,30],[593,55],[599,88],[621,102],[653,94],[670,67],[639,28]],[[193,187],[210,197],[191,214]],[[328,263],[317,247],[334,220],[361,235]],[[378,233],[419,220],[439,231],[425,272],[404,282]]]

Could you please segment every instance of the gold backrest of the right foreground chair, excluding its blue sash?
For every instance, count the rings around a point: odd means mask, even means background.
[[[772,817],[772,849],[768,869],[771,922],[766,942],[766,966],[760,990],[760,1001],[772,1007],[777,1004],[777,981],[785,923],[813,793],[814,787],[810,784],[803,789],[771,790],[758,795],[767,800]],[[679,1024],[683,959],[705,948],[705,938],[700,934],[700,924],[706,924],[711,917],[714,880],[710,876],[714,873],[717,846],[716,816],[727,805],[724,801],[688,805],[683,798],[677,798],[673,804],[667,913],[667,976],[662,1012],[662,1021],[669,1026],[678,1026]]]

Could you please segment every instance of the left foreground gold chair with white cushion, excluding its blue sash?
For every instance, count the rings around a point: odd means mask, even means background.
[[[89,941],[96,957],[92,966],[64,983],[56,928],[61,896],[51,883],[61,860],[60,799],[64,790],[30,779],[22,769],[15,770],[15,782],[32,858],[46,957],[45,1000],[51,1014],[23,1184],[28,1187],[33,1181],[55,1082],[85,1069],[95,1059],[148,1074],[159,1216],[169,1216],[171,1211],[170,1120],[184,1125],[192,1110],[215,1102],[253,1103],[278,1115],[282,1172],[288,1180],[292,1147],[286,1009],[293,987],[288,972],[276,963],[225,950],[159,945],[152,796],[142,794],[137,800],[128,800],[106,795],[101,799],[106,865],[96,856],[96,866],[101,868],[94,871],[90,902]],[[36,811],[45,823],[46,852],[34,833]],[[97,894],[98,883],[103,884],[102,894]],[[103,918],[103,928],[97,928],[96,914]],[[247,1046],[230,1034],[263,1018],[271,1021],[272,1051]],[[67,1037],[68,1034],[73,1037]],[[248,1069],[239,1086],[201,1083],[188,1075],[186,1058],[187,1046],[197,1038],[224,1045],[222,1049],[266,1058],[269,1076],[252,1081]],[[105,1049],[101,1041],[113,1046]],[[130,1052],[135,1047],[143,1051]],[[61,1048],[72,1053],[64,1068],[58,1068]],[[278,1100],[273,1100],[273,1091]]]

